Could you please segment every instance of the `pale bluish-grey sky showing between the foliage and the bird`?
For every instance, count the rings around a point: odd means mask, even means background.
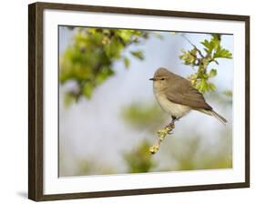
[[[72,43],[75,32],[65,27],[59,28],[60,55]],[[186,33],[185,35],[199,48],[202,47],[200,42],[203,39],[210,39],[210,35],[205,34]],[[152,82],[148,78],[154,75],[158,67],[167,67],[170,71],[185,77],[194,72],[191,66],[183,65],[179,59],[181,48],[191,49],[180,33],[170,35],[162,32],[161,36],[163,39],[150,37],[145,44],[136,46],[137,49],[144,51],[145,60],[140,61],[130,57],[128,69],[123,62],[115,63],[116,75],[97,87],[91,99],[83,98],[77,104],[66,108],[62,100],[65,87],[60,87],[59,144],[65,149],[61,161],[65,164],[65,169],[60,169],[63,174],[70,174],[77,170],[77,158],[97,159],[98,163],[109,165],[118,173],[125,173],[126,167],[122,153],[136,147],[144,138],[152,144],[155,143],[157,134],[149,135],[147,129],[138,131],[131,128],[120,117],[120,113],[123,107],[134,102],[157,103],[153,95]],[[221,45],[233,53],[233,36],[221,37]],[[129,47],[129,49],[132,48],[132,46]],[[218,75],[212,79],[212,82],[216,85],[218,92],[232,90],[233,60],[218,61],[219,66],[212,66],[218,70]],[[203,147],[214,150],[214,145],[221,139],[220,132],[227,131],[228,134],[228,128],[232,126],[232,109],[231,106],[221,105],[209,95],[206,96],[206,100],[220,115],[228,119],[227,127],[213,117],[191,111],[176,124],[175,137],[194,137],[200,134],[206,138],[204,140],[206,144]],[[163,124],[163,127],[165,125]],[[168,147],[169,142],[170,139],[166,138],[162,144],[163,148]],[[159,165],[162,167],[172,162],[172,158],[163,156],[161,153],[154,157],[159,160]]]

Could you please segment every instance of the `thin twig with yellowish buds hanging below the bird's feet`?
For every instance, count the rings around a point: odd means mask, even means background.
[[[152,147],[149,148],[149,151],[151,152],[151,154],[156,154],[159,151],[161,142],[164,140],[164,138],[167,135],[171,134],[171,131],[174,128],[175,128],[175,125],[174,125],[174,120],[173,120],[165,128],[159,129],[159,131],[158,131],[159,139],[158,139],[157,145],[153,145]]]

